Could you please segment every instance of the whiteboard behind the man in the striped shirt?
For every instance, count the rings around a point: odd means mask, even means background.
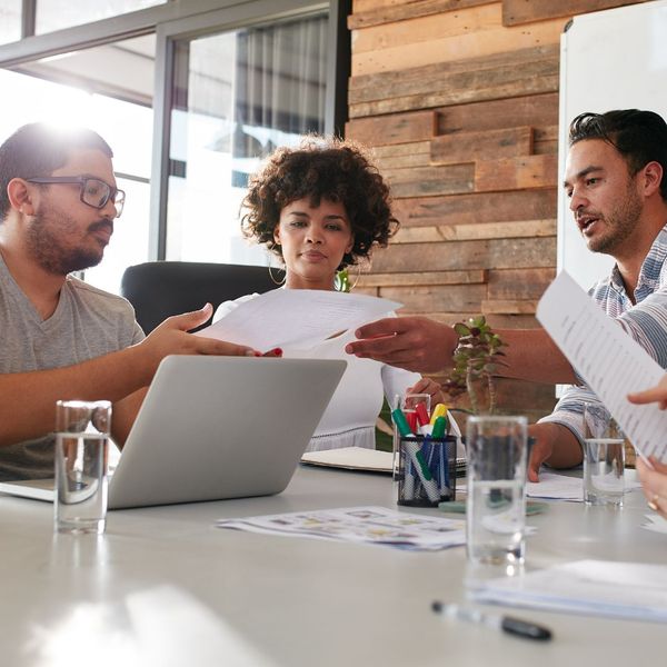
[[[667,120],[667,0],[573,19],[560,37],[558,270],[585,289],[607,276],[608,255],[590,252],[560,183],[570,121],[585,111],[647,109]]]

